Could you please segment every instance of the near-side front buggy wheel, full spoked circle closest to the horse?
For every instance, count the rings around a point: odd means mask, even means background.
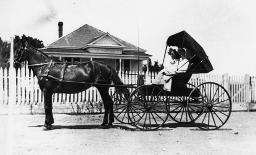
[[[141,130],[155,130],[169,115],[168,96],[155,85],[137,87],[127,101],[130,122]]]

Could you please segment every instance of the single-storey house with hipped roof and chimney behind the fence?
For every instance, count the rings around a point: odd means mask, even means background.
[[[111,65],[119,71],[142,70],[142,61],[152,55],[129,42],[119,39],[90,25],[83,25],[66,36],[62,36],[63,23],[59,22],[59,39],[40,49],[62,61],[98,61]]]

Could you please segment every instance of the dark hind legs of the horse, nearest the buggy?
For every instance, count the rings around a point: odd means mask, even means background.
[[[114,122],[113,101],[109,95],[109,87],[98,87],[98,91],[104,104],[104,118],[101,126],[111,127]],[[110,117],[109,117],[110,114]],[[109,124],[108,124],[109,123]],[[106,126],[108,124],[108,126]]]

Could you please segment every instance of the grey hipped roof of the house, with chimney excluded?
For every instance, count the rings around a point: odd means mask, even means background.
[[[125,47],[123,51],[138,50],[138,47],[132,45],[131,43],[119,39],[109,33],[105,33],[87,24],[71,32],[70,34],[59,38],[57,41],[51,43],[48,47],[83,48],[106,34],[116,39],[117,42],[120,42],[120,44]],[[139,50],[141,52],[145,52],[145,50],[141,48]]]

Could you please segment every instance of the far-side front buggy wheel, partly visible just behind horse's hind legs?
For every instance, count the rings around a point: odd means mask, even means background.
[[[112,95],[112,100],[114,101],[114,117],[117,121],[121,123],[129,123],[129,119],[126,112],[126,103],[128,97],[117,91]]]

